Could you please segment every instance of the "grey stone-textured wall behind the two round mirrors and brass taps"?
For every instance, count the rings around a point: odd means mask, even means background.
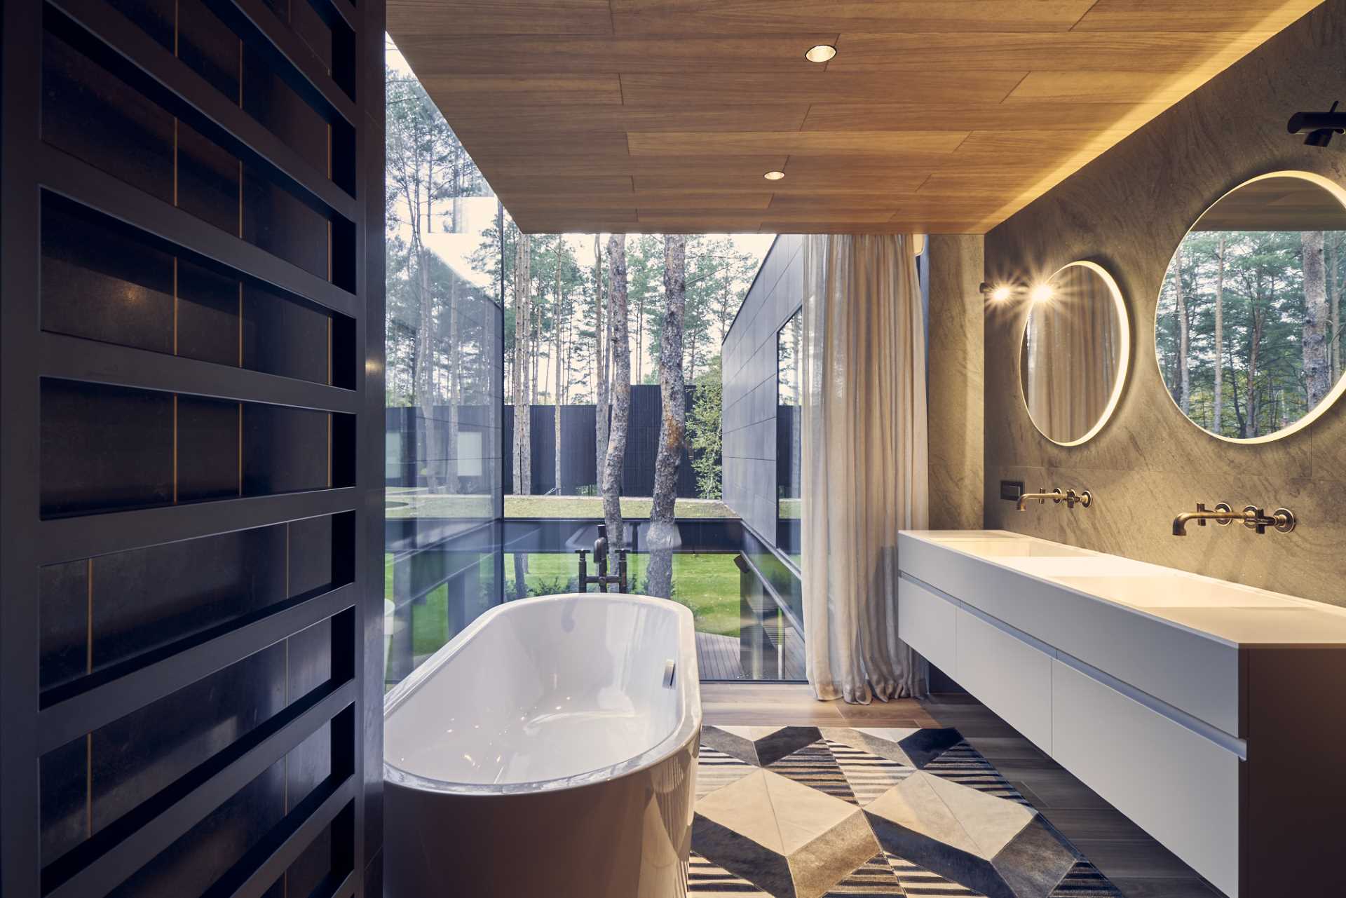
[[[1121,287],[1131,373],[1109,424],[1089,443],[1042,438],[1019,388],[1022,303],[985,323],[985,521],[1035,536],[1346,605],[1346,403],[1264,446],[1228,444],[1187,421],[1155,364],[1155,299],[1189,225],[1221,194],[1268,171],[1312,171],[1346,184],[1346,140],[1303,145],[1285,133],[1300,109],[1346,101],[1346,0],[1329,0],[987,236],[987,273],[1044,276],[1088,258]],[[1000,479],[1093,490],[1088,510],[1016,513]],[[1197,502],[1287,506],[1291,534],[1193,528]]]

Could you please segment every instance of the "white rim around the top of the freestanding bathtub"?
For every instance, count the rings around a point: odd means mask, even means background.
[[[592,770],[572,773],[565,777],[551,780],[532,780],[528,782],[456,782],[452,780],[435,780],[417,773],[411,773],[396,766],[384,758],[384,781],[405,789],[417,792],[431,792],[447,796],[517,796],[540,792],[560,792],[565,789],[580,789],[598,782],[607,782],[647,770],[688,749],[689,743],[700,740],[701,732],[701,672],[696,662],[696,619],[692,610],[678,602],[661,599],[650,595],[629,592],[563,592],[559,595],[542,595],[528,599],[514,599],[502,602],[485,611],[481,617],[463,627],[458,635],[440,646],[431,657],[416,668],[405,680],[388,691],[384,696],[384,722],[389,715],[413,696],[431,676],[448,662],[455,654],[463,650],[472,635],[485,629],[494,618],[522,606],[557,605],[567,600],[598,600],[598,602],[625,602],[635,605],[651,605],[660,609],[672,610],[677,618],[678,660],[676,672],[676,685],[682,699],[682,714],[673,727],[673,731],[656,742],[645,751]],[[690,676],[688,676],[690,675]],[[386,739],[386,738],[385,738]],[[695,749],[695,745],[692,746]]]

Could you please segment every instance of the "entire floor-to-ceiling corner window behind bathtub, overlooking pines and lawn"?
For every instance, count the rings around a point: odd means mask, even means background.
[[[592,547],[603,517],[600,446],[616,366],[608,234],[521,233],[392,43],[386,90],[390,687],[499,602],[579,591],[576,551]],[[742,529],[721,501],[720,345],[773,237],[685,240],[686,436],[668,592],[696,617],[704,676],[783,679],[740,662]],[[631,592],[653,588],[645,549],[662,419],[665,241],[621,238],[631,397],[619,493]]]

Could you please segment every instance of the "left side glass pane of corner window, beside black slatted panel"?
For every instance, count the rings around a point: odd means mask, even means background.
[[[390,685],[499,602],[507,215],[396,51],[386,89]]]

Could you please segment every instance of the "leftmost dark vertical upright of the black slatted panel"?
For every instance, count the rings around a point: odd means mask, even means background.
[[[0,16],[0,893],[38,895],[40,4],[5,0]]]

